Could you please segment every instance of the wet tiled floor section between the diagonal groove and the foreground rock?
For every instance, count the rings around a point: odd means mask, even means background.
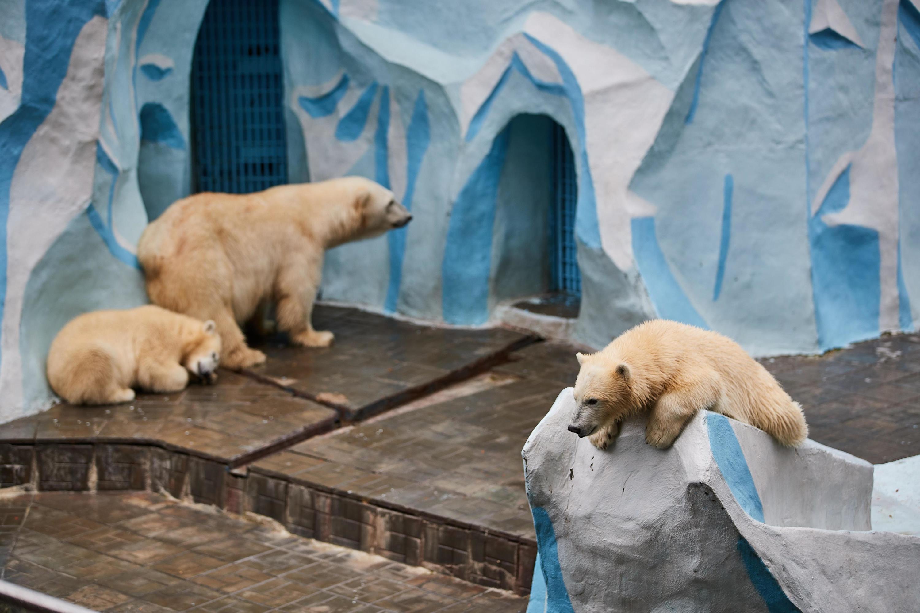
[[[257,462],[257,470],[515,537],[535,538],[521,448],[578,375],[575,351],[541,342],[459,398],[397,410]]]

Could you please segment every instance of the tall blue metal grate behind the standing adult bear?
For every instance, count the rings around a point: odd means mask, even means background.
[[[287,182],[278,0],[211,0],[192,61],[197,191]]]

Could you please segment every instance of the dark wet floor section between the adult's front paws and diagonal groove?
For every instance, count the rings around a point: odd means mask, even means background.
[[[316,307],[314,325],[335,333],[331,347],[305,350],[277,338],[257,343],[268,361],[249,372],[336,406],[349,419],[418,395],[421,387],[462,373],[527,338],[512,330],[431,328],[324,306]]]

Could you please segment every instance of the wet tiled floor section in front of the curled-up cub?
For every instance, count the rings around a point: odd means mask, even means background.
[[[222,371],[216,385],[140,394],[130,404],[49,411],[0,426],[0,441],[161,441],[229,460],[305,430],[327,428],[336,411],[248,376]]]

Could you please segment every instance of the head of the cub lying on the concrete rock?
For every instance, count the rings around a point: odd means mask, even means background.
[[[569,432],[590,436],[633,410],[631,372],[625,362],[612,360],[604,353],[578,353],[577,357],[581,369],[572,394],[578,409]]]

